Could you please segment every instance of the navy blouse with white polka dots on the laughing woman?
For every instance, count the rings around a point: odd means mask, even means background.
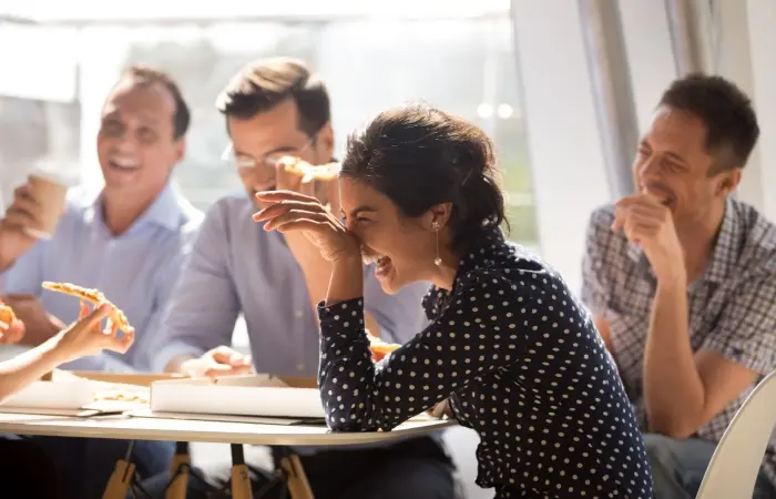
[[[497,498],[652,497],[616,368],[552,268],[492,232],[423,306],[432,323],[375,364],[363,301],[320,305],[329,427],[390,430],[449,398],[480,436],[477,483]]]

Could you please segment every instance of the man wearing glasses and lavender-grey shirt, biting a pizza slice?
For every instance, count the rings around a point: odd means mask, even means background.
[[[245,67],[216,103],[226,116],[229,156],[246,193],[217,201],[205,215],[159,338],[157,370],[194,375],[261,373],[315,376],[318,367],[317,303],[326,296],[330,264],[302,234],[265,232],[253,218],[254,194],[267,190],[315,193],[336,204],[336,179],[303,185],[279,157],[309,164],[331,161],[334,133],[324,83],[300,62],[258,61]],[[338,207],[333,206],[334,210]],[[404,343],[421,330],[428,286],[389,296],[372,268],[365,268],[368,327],[385,340]],[[252,358],[229,348],[238,314],[251,338]],[[412,438],[358,450],[296,449],[316,499],[432,499],[455,497],[453,466],[436,438]],[[229,462],[204,473],[228,480]],[[223,471],[219,473],[218,471]],[[221,476],[219,476],[221,475]],[[223,477],[223,478],[222,478]],[[156,490],[166,473],[146,482]],[[196,480],[190,486],[200,488]],[[163,486],[162,486],[163,487]],[[188,497],[205,497],[191,490]]]

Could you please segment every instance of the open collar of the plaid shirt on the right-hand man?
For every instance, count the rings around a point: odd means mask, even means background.
[[[736,245],[742,241],[742,232],[743,228],[741,226],[738,212],[733,205],[733,200],[727,198],[725,203],[725,214],[722,218],[716,243],[714,244],[714,252],[712,253],[712,258],[708,261],[703,275],[704,281],[722,283],[731,271],[733,271],[738,255]],[[634,243],[627,243],[627,256],[652,274],[652,267],[650,267],[650,263],[641,246]]]

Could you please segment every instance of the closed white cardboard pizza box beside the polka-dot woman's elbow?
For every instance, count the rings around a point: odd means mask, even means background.
[[[315,379],[263,374],[154,381],[151,411],[279,418],[325,416]]]

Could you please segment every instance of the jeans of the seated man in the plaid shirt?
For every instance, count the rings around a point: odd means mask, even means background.
[[[696,438],[677,440],[645,434],[644,445],[652,468],[656,499],[693,499],[714,455],[716,445]],[[776,489],[760,469],[753,499],[775,499]]]

